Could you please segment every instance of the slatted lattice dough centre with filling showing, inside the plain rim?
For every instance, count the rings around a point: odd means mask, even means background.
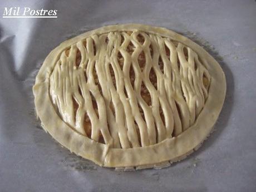
[[[115,148],[149,146],[194,124],[208,97],[206,66],[170,38],[142,31],[93,35],[60,54],[50,95],[80,134]]]

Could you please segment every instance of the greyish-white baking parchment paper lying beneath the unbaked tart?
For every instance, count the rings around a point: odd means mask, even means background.
[[[0,191],[256,191],[255,1],[1,1],[58,18],[0,18]],[[166,27],[220,63],[227,97],[215,131],[169,168],[118,172],[62,148],[36,120],[32,85],[62,41],[116,23]]]

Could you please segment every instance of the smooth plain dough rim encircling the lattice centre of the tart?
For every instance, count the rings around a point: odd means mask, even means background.
[[[208,71],[211,75],[211,82],[208,99],[196,119],[195,124],[190,126],[179,136],[146,147],[116,149],[81,135],[62,121],[50,99],[50,75],[60,53],[73,43],[93,34],[108,33],[110,31],[129,31],[132,29],[169,37],[172,40],[179,41],[192,48],[199,57],[201,57],[201,60],[206,60],[210,63]],[[161,164],[166,161],[174,162],[184,159],[184,156],[189,155],[191,151],[198,147],[210,134],[223,107],[225,92],[226,81],[224,72],[219,63],[216,62],[208,52],[195,42],[170,29],[144,24],[117,24],[105,26],[62,42],[60,46],[52,50],[46,57],[36,77],[36,83],[33,86],[36,112],[44,129],[71,152],[75,152],[77,155],[92,160],[100,166],[115,168],[130,166],[142,166],[142,168],[146,168],[147,166],[152,167],[152,165]]]

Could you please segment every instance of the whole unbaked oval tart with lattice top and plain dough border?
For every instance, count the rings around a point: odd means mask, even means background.
[[[193,152],[223,106],[225,75],[169,29],[106,26],[46,57],[33,93],[43,128],[100,166],[146,168]]]

